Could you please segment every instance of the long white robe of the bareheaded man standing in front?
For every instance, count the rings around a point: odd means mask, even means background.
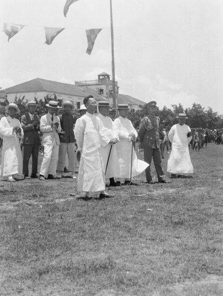
[[[105,189],[105,176],[101,146],[110,140],[102,133],[102,123],[95,115],[86,113],[75,125],[75,137],[81,159],[78,191],[97,192]]]

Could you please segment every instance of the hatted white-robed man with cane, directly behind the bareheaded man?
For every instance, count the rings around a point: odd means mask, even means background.
[[[104,164],[105,179],[109,179],[109,186],[118,186],[114,178],[121,177],[119,159],[116,151],[116,142],[119,141],[119,131],[114,127],[109,114],[109,102],[101,101],[98,103],[98,115],[102,122],[102,131],[111,143],[101,148],[101,155]]]

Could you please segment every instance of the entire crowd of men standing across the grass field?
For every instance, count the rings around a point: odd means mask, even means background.
[[[58,102],[49,101],[48,112],[41,118],[36,113],[36,101],[27,103],[28,112],[16,119],[20,113],[16,104],[5,107],[8,116],[0,120],[0,136],[3,139],[0,175],[8,182],[15,182],[15,175],[24,179],[61,179],[64,167],[68,167],[71,178],[75,176],[75,159],[79,164],[78,191],[91,198],[91,192],[99,192],[99,197],[109,197],[105,191],[105,180],[110,186],[136,185],[134,176],[145,170],[146,182],[154,184],[150,165],[153,159],[159,183],[165,180],[162,169],[165,147],[170,154],[167,171],[171,178],[185,178],[193,173],[189,149],[195,151],[207,147],[211,141],[221,144],[222,132],[208,129],[191,130],[185,124],[186,114],[178,114],[178,124],[170,130],[163,127],[157,117],[157,103],[147,104],[148,114],[142,118],[138,132],[127,118],[128,104],[118,104],[117,111],[110,110],[107,101],[98,105],[92,96],[84,99],[79,109],[81,117],[75,122],[72,111],[74,105],[65,101],[62,108]],[[95,113],[98,107],[98,112]],[[58,114],[59,113],[59,114]],[[23,143],[23,158],[20,140]],[[144,161],[137,159],[134,144],[138,139],[143,148]],[[41,146],[42,145],[42,146]],[[40,148],[44,157],[38,176],[38,157]],[[171,148],[171,153],[169,152]],[[76,155],[75,150],[77,149]],[[29,173],[29,160],[32,155],[32,172]],[[68,156],[68,164],[66,162]],[[124,183],[121,183],[122,180]]]

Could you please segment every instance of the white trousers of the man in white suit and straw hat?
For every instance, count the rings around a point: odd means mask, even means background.
[[[58,161],[59,145],[55,139],[52,145],[44,144],[44,159],[40,169],[40,175],[56,175],[56,166]]]

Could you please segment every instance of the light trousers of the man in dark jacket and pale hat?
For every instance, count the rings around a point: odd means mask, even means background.
[[[64,167],[65,167],[66,153],[68,154],[68,160],[69,160],[68,170],[74,172],[75,171],[75,169],[74,169],[74,166],[75,166],[75,144],[74,143],[60,143],[57,171],[63,172]]]

